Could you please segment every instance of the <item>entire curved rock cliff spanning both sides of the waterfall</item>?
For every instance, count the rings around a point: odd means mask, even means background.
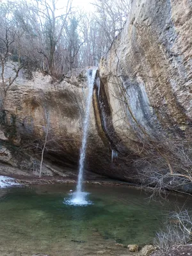
[[[188,174],[191,17],[189,0],[133,1],[129,20],[100,61],[100,86],[95,83],[91,109],[89,170],[141,181],[140,173],[143,169],[150,173],[150,164],[157,172],[173,174],[180,172],[183,161],[186,170],[180,173]],[[61,83],[40,74],[28,81],[20,74],[4,106],[9,140],[17,147],[34,147],[35,140],[44,140],[49,127],[46,157],[77,168],[87,92],[83,71]]]

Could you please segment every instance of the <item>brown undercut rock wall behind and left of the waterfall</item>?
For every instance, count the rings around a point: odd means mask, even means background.
[[[3,92],[1,95],[3,97]],[[29,81],[21,72],[4,100],[0,161],[27,169],[28,175],[38,175],[38,159],[48,130],[42,174],[63,175],[62,170],[63,173],[68,168],[77,170],[87,95],[86,70],[76,70],[61,83],[40,73]],[[95,113],[94,104],[90,115],[87,168],[110,176],[111,152],[106,152],[102,134],[97,129],[95,116],[99,115]],[[109,141],[105,140],[108,149]],[[27,156],[23,156],[24,152]]]

